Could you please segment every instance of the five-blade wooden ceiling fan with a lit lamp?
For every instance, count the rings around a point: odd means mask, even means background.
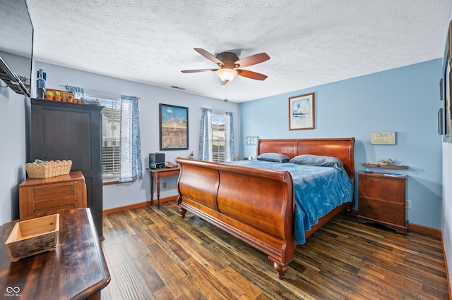
[[[248,67],[249,65],[256,65],[258,63],[263,63],[264,61],[268,61],[270,56],[266,53],[259,53],[248,56],[246,58],[240,59],[239,56],[232,52],[222,52],[218,54],[216,57],[212,54],[208,53],[208,51],[201,48],[194,48],[196,52],[206,57],[208,60],[216,63],[220,68],[219,69],[198,69],[198,70],[182,70],[182,73],[198,73],[198,72],[206,72],[206,71],[215,71],[220,80],[227,83],[234,79],[236,75],[240,75],[243,77],[251,78],[254,80],[266,80],[267,75],[263,75],[261,73],[256,73],[249,70],[242,70],[239,68]]]

